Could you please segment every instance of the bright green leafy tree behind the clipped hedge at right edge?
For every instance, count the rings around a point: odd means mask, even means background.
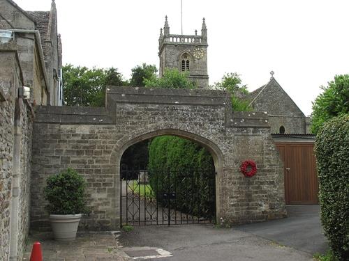
[[[328,86],[320,88],[323,93],[316,97],[311,113],[311,132],[314,134],[331,118],[349,113],[349,74],[336,75]]]

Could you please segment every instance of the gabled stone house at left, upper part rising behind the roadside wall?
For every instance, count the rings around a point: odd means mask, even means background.
[[[50,11],[27,12],[11,0],[0,0],[0,10],[0,29],[13,32],[31,104],[61,105],[61,37],[54,1]]]

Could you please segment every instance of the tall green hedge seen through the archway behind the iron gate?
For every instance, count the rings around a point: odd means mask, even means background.
[[[215,216],[214,161],[197,143],[156,137],[149,146],[149,182],[159,203],[194,216]],[[176,191],[175,200],[163,193]]]

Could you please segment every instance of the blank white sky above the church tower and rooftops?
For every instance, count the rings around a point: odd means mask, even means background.
[[[51,0],[15,0],[50,10]],[[181,33],[180,0],[56,0],[64,64],[113,66],[128,79],[142,63],[158,67],[158,35],[168,15]],[[335,74],[349,73],[348,0],[183,0],[184,34],[208,34],[209,82],[241,74],[248,90],[275,79],[306,114]]]

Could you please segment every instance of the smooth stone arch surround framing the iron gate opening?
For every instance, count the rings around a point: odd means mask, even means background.
[[[116,179],[115,181],[117,182],[116,186],[117,188],[120,188],[121,185],[119,184],[120,180],[120,161],[121,157],[124,154],[125,150],[130,147],[131,145],[138,143],[140,141],[144,141],[147,139],[154,138],[156,136],[163,136],[163,135],[172,135],[172,136],[179,136],[184,139],[188,139],[189,141],[194,141],[202,147],[206,148],[210,153],[212,158],[214,159],[214,167],[216,171],[216,177],[215,177],[215,198],[216,198],[216,222],[218,222],[218,216],[219,213],[221,213],[220,209],[220,191],[219,191],[219,182],[218,180],[221,179],[221,176],[223,175],[223,161],[224,157],[221,152],[221,150],[218,148],[218,145],[216,145],[213,141],[210,141],[209,139],[205,139],[204,137],[198,135],[198,134],[193,134],[191,132],[186,132],[181,129],[158,129],[153,132],[147,132],[144,134],[131,134],[128,136],[128,138],[124,139],[122,141],[122,145],[115,146],[114,150],[112,152],[111,158],[110,158],[110,164],[117,163],[116,165]],[[120,194],[120,191],[117,192],[117,194]]]

